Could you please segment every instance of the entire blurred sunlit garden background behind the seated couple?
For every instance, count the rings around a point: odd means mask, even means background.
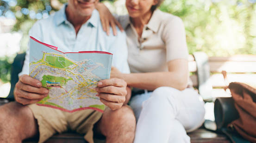
[[[17,53],[27,48],[33,23],[53,15],[66,0],[0,0],[0,91],[10,90],[10,68]],[[124,15],[125,0],[104,1]],[[182,18],[190,54],[208,56],[256,54],[256,0],[165,0],[162,11]]]

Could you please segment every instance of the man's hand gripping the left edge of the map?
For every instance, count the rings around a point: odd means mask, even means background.
[[[14,98],[23,105],[37,103],[49,93],[47,88],[41,86],[42,83],[39,80],[23,74],[15,86]]]

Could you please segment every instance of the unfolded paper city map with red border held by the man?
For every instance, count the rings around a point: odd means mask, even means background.
[[[83,109],[103,112],[105,105],[95,87],[98,81],[110,78],[112,56],[104,51],[63,53],[31,37],[30,76],[50,91],[37,104],[70,113]]]

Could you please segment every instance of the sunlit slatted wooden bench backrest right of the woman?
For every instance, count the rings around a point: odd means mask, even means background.
[[[196,61],[196,58],[199,61]],[[201,75],[198,74],[198,69],[201,70]],[[256,81],[256,55],[207,57],[204,52],[195,52],[194,56],[189,56],[189,71],[192,74],[190,78],[193,81],[193,86],[202,92],[201,95],[206,94],[202,95],[204,99],[231,97],[224,90],[224,87],[228,86],[230,82]],[[223,74],[226,74],[226,79]]]

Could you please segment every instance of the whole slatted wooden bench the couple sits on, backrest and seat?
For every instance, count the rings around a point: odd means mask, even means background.
[[[25,56],[25,55],[22,55]],[[22,56],[18,56],[23,59]],[[20,62],[17,59],[18,62]],[[17,63],[14,63],[17,64]],[[16,68],[20,65],[14,65]],[[21,69],[19,69],[21,70]],[[12,74],[12,83],[17,82],[17,73]],[[207,57],[204,52],[194,52],[189,56],[189,71],[193,86],[197,89],[206,102],[214,101],[216,97],[231,97],[225,92],[224,87],[229,82],[256,81],[256,55],[236,55],[231,57]],[[227,79],[224,79],[222,71],[226,71]],[[9,100],[13,100],[12,84]],[[206,110],[207,114],[207,110]],[[213,114],[213,112],[211,113]],[[231,140],[222,133],[208,131],[202,126],[200,129],[188,133],[191,143],[231,143]],[[36,143],[34,140],[26,140],[23,143]],[[62,133],[51,137],[45,143],[86,143],[82,135],[76,133]],[[105,143],[104,140],[95,139],[95,143]]]

